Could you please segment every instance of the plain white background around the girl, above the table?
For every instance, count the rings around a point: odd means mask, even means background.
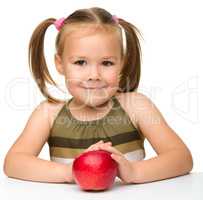
[[[143,62],[139,91],[160,109],[190,148],[193,172],[203,171],[202,156],[202,5],[197,0],[1,1],[0,3],[0,176],[3,159],[33,109],[44,100],[28,68],[28,42],[44,19],[66,17],[79,8],[99,6],[134,23],[142,32]],[[45,53],[54,79],[56,29],[46,33]],[[59,97],[63,93],[52,90]],[[69,97],[69,94],[68,94]],[[145,143],[147,158],[155,153]],[[40,157],[49,159],[45,145]]]

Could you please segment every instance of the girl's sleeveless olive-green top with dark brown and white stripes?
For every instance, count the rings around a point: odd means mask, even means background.
[[[136,128],[115,96],[113,106],[103,117],[93,121],[80,121],[69,110],[69,99],[56,116],[48,138],[52,161],[70,163],[90,145],[103,140],[129,160],[145,157],[144,136]]]

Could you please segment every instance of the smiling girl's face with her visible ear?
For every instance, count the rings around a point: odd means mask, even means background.
[[[62,58],[55,56],[57,70],[80,105],[99,106],[119,88],[122,69],[118,33],[85,29],[65,39]]]

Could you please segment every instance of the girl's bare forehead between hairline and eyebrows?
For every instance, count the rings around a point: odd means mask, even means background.
[[[78,29],[69,29],[66,35],[64,53],[74,51],[94,51],[100,49],[101,52],[120,53],[119,34],[109,27],[82,26]]]

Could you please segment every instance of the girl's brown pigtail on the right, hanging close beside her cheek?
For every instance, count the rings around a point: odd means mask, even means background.
[[[127,40],[124,68],[121,72],[119,88],[122,92],[135,91],[138,88],[141,75],[141,46],[138,35],[139,30],[129,22],[119,19],[119,24],[124,28]]]

